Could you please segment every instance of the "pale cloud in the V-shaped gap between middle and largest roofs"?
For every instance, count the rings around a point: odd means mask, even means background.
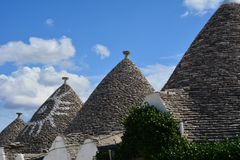
[[[154,89],[160,91],[171,76],[174,69],[175,66],[155,64],[142,68],[142,71]]]

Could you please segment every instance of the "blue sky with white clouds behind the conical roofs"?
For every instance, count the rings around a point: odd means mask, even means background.
[[[1,0],[0,130],[61,85],[85,101],[130,50],[160,90],[221,0]]]

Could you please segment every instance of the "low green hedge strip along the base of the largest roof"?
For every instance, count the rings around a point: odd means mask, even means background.
[[[182,145],[182,144],[181,144]],[[164,150],[154,160],[236,160],[240,159],[240,137],[221,142],[188,143],[187,147]]]

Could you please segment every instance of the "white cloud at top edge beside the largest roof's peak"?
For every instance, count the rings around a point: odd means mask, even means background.
[[[209,10],[216,9],[221,2],[222,0],[184,0],[183,3],[188,8],[187,12],[202,15]]]

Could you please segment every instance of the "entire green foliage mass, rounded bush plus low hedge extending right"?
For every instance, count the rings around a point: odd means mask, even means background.
[[[115,159],[221,160],[240,159],[240,137],[221,142],[193,143],[182,138],[169,113],[148,104],[134,109],[124,122],[125,133]]]

